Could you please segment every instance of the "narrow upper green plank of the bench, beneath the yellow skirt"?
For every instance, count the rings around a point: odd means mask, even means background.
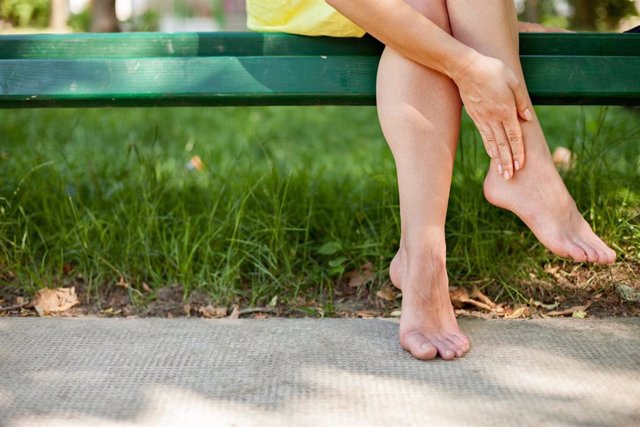
[[[521,55],[640,56],[640,34],[520,35]],[[0,36],[1,59],[202,56],[379,56],[372,37],[303,37],[260,33],[120,33]]]

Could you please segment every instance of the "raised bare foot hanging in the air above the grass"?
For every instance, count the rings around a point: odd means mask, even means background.
[[[527,165],[505,181],[492,161],[484,181],[487,200],[518,215],[556,255],[578,262],[613,263],[615,252],[600,240],[578,212],[553,164],[542,130],[530,123],[522,127]]]

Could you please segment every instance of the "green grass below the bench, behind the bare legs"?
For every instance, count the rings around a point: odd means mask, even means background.
[[[577,155],[565,178],[581,212],[623,260],[640,262],[638,113],[538,112],[551,145]],[[3,111],[0,135],[2,286],[28,295],[73,276],[95,297],[123,278],[133,290],[180,283],[220,304],[315,299],[331,312],[346,272],[370,262],[370,286],[388,280],[398,196],[373,108]],[[186,167],[195,155],[202,171]],[[451,282],[522,298],[519,283],[562,261],[484,201],[486,164],[465,119]]]

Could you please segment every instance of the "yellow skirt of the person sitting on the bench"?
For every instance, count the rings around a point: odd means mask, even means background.
[[[253,31],[306,36],[362,37],[365,31],[324,0],[247,0]]]

